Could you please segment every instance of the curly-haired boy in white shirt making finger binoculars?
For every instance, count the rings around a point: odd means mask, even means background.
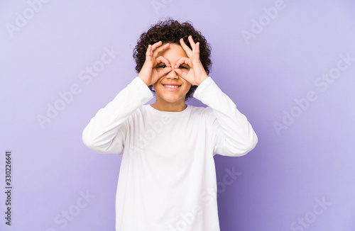
[[[190,23],[157,23],[135,47],[138,76],[84,128],[92,151],[123,154],[116,231],[219,231],[213,156],[244,155],[258,138],[208,76],[210,53]]]

